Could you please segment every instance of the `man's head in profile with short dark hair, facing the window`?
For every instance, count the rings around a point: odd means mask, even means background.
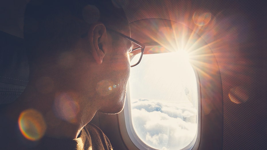
[[[130,36],[122,8],[104,0],[33,0],[24,24],[30,81],[38,81],[40,94],[73,97],[81,114],[122,110],[131,43],[109,32]]]

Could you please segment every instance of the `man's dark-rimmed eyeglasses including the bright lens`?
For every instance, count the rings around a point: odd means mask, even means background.
[[[130,38],[129,36],[126,36],[120,32],[117,32],[115,30],[112,30],[112,29],[109,29],[107,28],[108,31],[111,31],[119,36],[122,36],[123,38],[126,38],[127,40],[129,40],[133,47],[132,47],[132,56],[130,56],[130,66],[131,67],[134,67],[136,65],[138,65],[143,57],[143,53],[144,53],[144,50],[145,50],[145,45],[138,42],[137,40],[135,39],[132,39]],[[81,35],[81,38],[85,38],[87,36],[87,33],[85,34],[82,34]]]

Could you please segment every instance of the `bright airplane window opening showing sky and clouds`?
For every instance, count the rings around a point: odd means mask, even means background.
[[[127,100],[131,128],[127,131],[142,147],[183,149],[194,143],[198,88],[186,52],[143,55],[131,68]]]

